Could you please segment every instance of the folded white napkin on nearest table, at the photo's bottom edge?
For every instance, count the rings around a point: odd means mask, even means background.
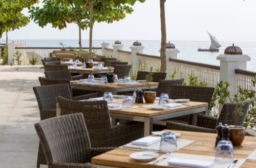
[[[195,160],[195,159],[179,159],[179,158],[171,158],[168,160],[169,165],[178,165],[178,166],[188,166],[188,167],[212,167],[214,162],[212,161],[203,161],[203,160]]]

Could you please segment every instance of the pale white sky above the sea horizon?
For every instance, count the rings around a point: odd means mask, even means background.
[[[207,31],[219,41],[256,42],[255,0],[166,0],[167,41],[209,41]],[[161,40],[160,1],[136,2],[134,12],[114,23],[95,23],[95,40]],[[25,11],[26,13],[26,11]],[[44,28],[31,21],[26,27],[8,33],[18,39],[78,39],[76,24],[67,29]],[[2,39],[6,39],[3,34]],[[89,39],[89,30],[82,32]]]

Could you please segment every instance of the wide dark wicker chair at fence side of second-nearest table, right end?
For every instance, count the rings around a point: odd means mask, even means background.
[[[167,90],[167,94],[169,95],[170,99],[190,99],[191,101],[208,103],[208,110],[202,111],[201,113],[206,114],[210,109],[210,102],[212,95],[214,94],[214,90],[215,88],[212,87],[172,85]],[[189,125],[195,125],[197,122],[197,115],[198,114],[191,114],[167,120],[181,122]],[[167,120],[154,122],[155,129],[165,129]]]

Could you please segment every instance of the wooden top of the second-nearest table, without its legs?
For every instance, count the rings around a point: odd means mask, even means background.
[[[115,102],[115,104],[122,105],[122,102]],[[114,114],[122,114],[122,115],[131,115],[131,116],[142,116],[142,117],[154,117],[159,115],[165,115],[170,113],[176,113],[178,111],[194,109],[198,107],[208,106],[208,103],[205,102],[195,102],[189,101],[187,103],[182,103],[182,106],[176,108],[167,108],[164,110],[152,110],[150,107],[146,107],[147,105],[157,105],[158,101],[154,104],[150,103],[134,103],[134,106],[139,106],[138,108],[128,108],[128,109],[112,109],[110,108],[110,113]]]

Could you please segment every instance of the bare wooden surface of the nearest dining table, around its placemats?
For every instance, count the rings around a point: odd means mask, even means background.
[[[165,130],[165,131],[175,131],[175,130]],[[184,155],[199,155],[201,159],[205,156],[209,156],[211,158],[215,157],[216,147],[215,147],[215,139],[217,133],[205,133],[205,132],[190,132],[190,131],[176,131],[181,133],[181,136],[177,139],[190,139],[194,140],[193,143],[179,149],[178,151],[172,153],[170,158],[172,158],[173,154],[176,154],[176,157]],[[117,149],[105,152],[98,156],[95,156],[91,159],[91,162],[97,165],[106,165],[113,167],[180,167],[180,166],[171,166],[171,165],[153,165],[151,161],[137,161],[132,159],[130,155],[134,152],[139,152],[142,150],[138,149],[130,149],[130,148],[122,148],[119,147]],[[250,154],[256,154],[256,137],[254,136],[245,136],[244,141],[241,146],[234,147],[234,158],[239,161],[236,164],[242,164],[240,167],[255,167],[256,164],[256,155],[252,156]],[[155,151],[154,151],[155,152]],[[156,159],[159,159],[164,155],[164,153],[157,152],[159,155]],[[250,156],[249,156],[250,155]],[[248,157],[249,156],[249,157]],[[247,158],[248,157],[248,158]],[[156,160],[155,159],[155,160]],[[226,166],[228,167],[228,166]]]

